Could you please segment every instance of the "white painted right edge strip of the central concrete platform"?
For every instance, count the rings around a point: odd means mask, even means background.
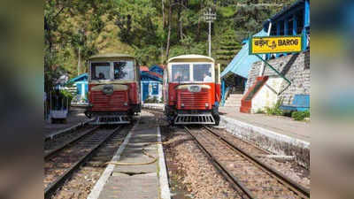
[[[164,149],[161,144],[160,126],[158,126],[158,142],[159,142],[158,143],[158,167],[159,167],[158,180],[160,184],[161,199],[170,199],[171,193],[170,193],[170,188],[167,179]]]

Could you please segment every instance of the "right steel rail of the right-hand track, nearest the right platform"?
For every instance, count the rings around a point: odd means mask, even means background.
[[[211,134],[213,134],[214,136],[219,138],[220,141],[227,143],[227,146],[229,148],[235,149],[240,155],[242,155],[242,157],[245,157],[251,163],[253,163],[254,165],[257,165],[258,168],[269,173],[274,178],[276,178],[278,181],[281,181],[281,184],[288,187],[291,191],[293,191],[297,195],[301,196],[302,198],[310,198],[310,190],[308,188],[304,188],[302,185],[298,184],[296,181],[289,179],[289,177],[283,175],[281,172],[276,171],[270,165],[267,165],[266,163],[262,163],[261,161],[258,160],[258,158],[253,157],[248,152],[244,151],[243,149],[240,149],[239,147],[235,146],[235,144],[227,141],[227,139],[225,139],[223,136],[215,133],[209,127],[204,126],[204,128],[208,132],[210,132]]]

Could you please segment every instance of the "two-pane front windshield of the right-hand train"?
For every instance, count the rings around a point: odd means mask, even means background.
[[[173,82],[213,82],[212,64],[175,64],[171,67]]]

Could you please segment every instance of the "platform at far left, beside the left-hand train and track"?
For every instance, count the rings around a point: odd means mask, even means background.
[[[57,134],[60,131],[69,130],[75,126],[81,126],[83,123],[88,122],[89,119],[84,114],[85,107],[71,107],[67,116],[66,122],[62,124],[44,123],[44,137],[50,134]]]

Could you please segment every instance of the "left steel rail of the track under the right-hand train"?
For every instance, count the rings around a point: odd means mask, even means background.
[[[227,169],[225,166],[221,165],[221,164],[219,163],[219,161],[218,161],[215,157],[213,157],[212,154],[211,154],[207,149],[204,148],[203,144],[202,144],[201,142],[199,142],[199,141],[196,139],[196,136],[190,132],[190,130],[189,130],[188,127],[186,127],[186,126],[183,126],[183,127],[184,127],[184,129],[194,138],[194,140],[195,140],[196,143],[197,143],[198,148],[199,148],[199,149],[202,149],[202,151],[204,152],[204,154],[205,154],[207,157],[209,157],[210,160],[212,160],[212,165],[214,165],[214,166],[216,165],[216,168],[222,173],[222,175],[223,175],[224,177],[226,177],[227,180],[229,180],[229,181],[231,180],[231,181],[230,181],[231,183],[234,183],[234,184],[237,185],[238,188],[241,188],[241,189],[242,189],[242,192],[243,192],[245,195],[247,195],[249,198],[251,198],[251,199],[256,199],[256,198],[257,198],[255,195],[253,195],[252,193],[250,193],[250,190],[249,190],[248,188],[246,188],[246,187],[243,185],[243,183],[242,183],[240,180],[238,180],[238,179],[232,174],[232,172],[228,171],[228,169]],[[234,187],[234,186],[233,186],[233,187]],[[234,187],[234,188],[235,188],[235,187]],[[235,189],[237,189],[237,188],[235,188]]]

